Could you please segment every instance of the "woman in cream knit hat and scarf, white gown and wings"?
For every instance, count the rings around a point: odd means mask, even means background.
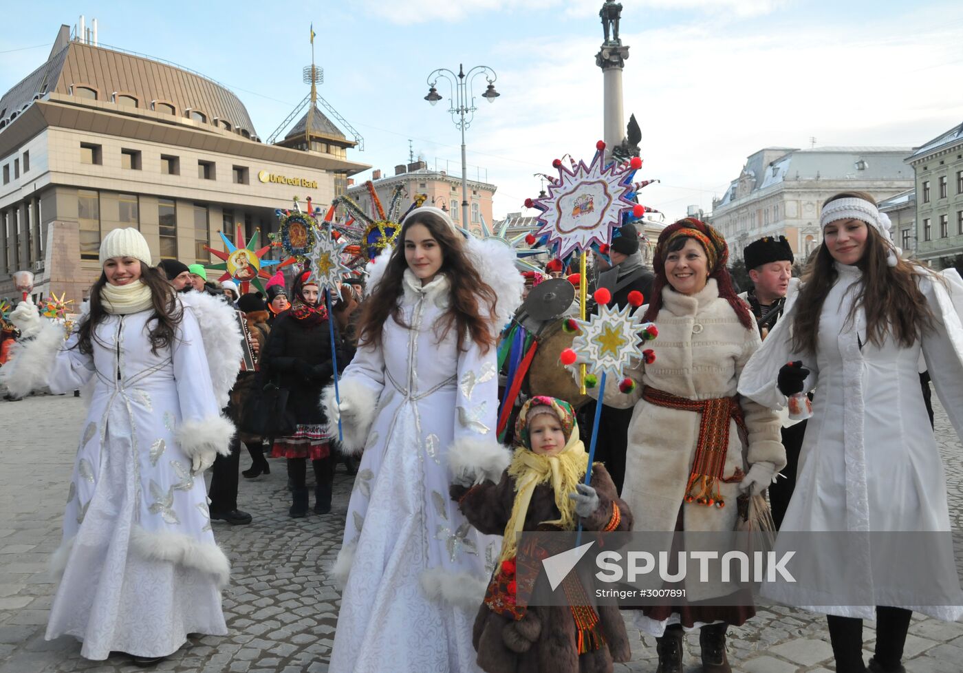
[[[148,665],[187,634],[227,633],[221,587],[230,567],[211,532],[201,473],[234,432],[220,409],[241,341],[233,321],[217,314],[230,312],[224,302],[191,298],[219,304],[207,307],[217,324],[204,333],[222,335],[222,359],[209,369],[195,309],[150,267],[136,229],[105,236],[100,261],[90,312],[66,342],[63,327],[41,320],[36,306],[17,307],[25,339],[3,376],[15,395],[42,385],[65,393],[93,380],[65,489],[63,544],[52,559],[62,578],[46,638],[76,637],[87,659],[116,651]]]

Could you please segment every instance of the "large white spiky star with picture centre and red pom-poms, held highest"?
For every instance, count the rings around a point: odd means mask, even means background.
[[[599,142],[592,163],[571,160],[571,169],[560,160],[559,179],[548,186],[548,195],[532,201],[542,211],[535,238],[547,237],[555,256],[563,259],[574,251],[585,252],[592,244],[612,243],[612,230],[622,224],[622,214],[635,201],[632,178],[635,170],[612,162],[604,165],[605,143]]]

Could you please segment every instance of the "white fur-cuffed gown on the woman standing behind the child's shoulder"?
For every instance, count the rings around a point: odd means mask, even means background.
[[[439,343],[444,275],[423,287],[405,270],[403,283],[410,327],[389,319],[382,347],[359,348],[341,380],[343,401],[377,409],[348,508],[353,562],[332,673],[479,670],[472,625],[501,538],[481,535],[449,498],[448,456],[494,441],[496,349],[459,352],[454,328]]]

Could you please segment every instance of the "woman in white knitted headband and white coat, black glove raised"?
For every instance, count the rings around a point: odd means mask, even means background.
[[[869,670],[891,673],[903,670],[911,609],[948,621],[963,616],[951,546],[915,564],[878,547],[895,543],[906,552],[914,546],[881,533],[932,533],[916,538],[917,545],[949,536],[943,465],[918,371],[922,353],[960,434],[961,283],[951,270],[941,276],[899,259],[890,221],[870,194],[827,199],[820,224],[822,244],[801,288],[791,291],[783,318],[749,360],[739,389],[772,408],[815,390],[775,553],[786,551],[785,531],[845,532],[849,545],[830,544],[827,535],[826,544],[800,550],[798,556],[808,553],[810,565],[828,572],[792,585],[767,583],[763,594],[828,615],[840,673],[866,670],[862,619],[875,617]],[[851,605],[826,605],[835,602]]]

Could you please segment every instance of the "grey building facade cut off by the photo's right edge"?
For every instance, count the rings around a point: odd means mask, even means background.
[[[916,173],[917,257],[943,269],[963,254],[963,124],[906,161]]]

